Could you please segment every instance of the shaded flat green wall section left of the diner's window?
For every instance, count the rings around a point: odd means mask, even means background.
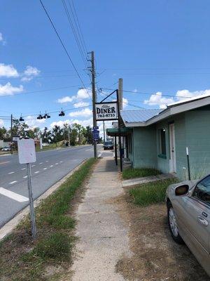
[[[157,167],[155,126],[134,127],[134,161],[135,168]]]

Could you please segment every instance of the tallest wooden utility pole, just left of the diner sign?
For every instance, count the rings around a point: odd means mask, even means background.
[[[92,124],[97,126],[96,121],[96,112],[95,112],[95,103],[97,102],[96,91],[95,91],[95,71],[94,71],[94,51],[91,52],[91,74],[92,74]],[[97,159],[97,142],[93,142],[94,145],[94,158]]]

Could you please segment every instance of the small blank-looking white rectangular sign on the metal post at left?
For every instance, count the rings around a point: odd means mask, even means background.
[[[36,162],[35,143],[32,138],[18,140],[18,156],[20,164]]]

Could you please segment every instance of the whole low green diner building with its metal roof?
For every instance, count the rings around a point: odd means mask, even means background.
[[[186,179],[210,174],[210,97],[200,96],[165,110],[122,110],[125,157],[134,168],[154,167]],[[125,131],[127,130],[127,133]]]

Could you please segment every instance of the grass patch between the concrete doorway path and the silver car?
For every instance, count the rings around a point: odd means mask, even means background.
[[[129,192],[135,204],[146,207],[150,204],[165,202],[167,187],[177,182],[179,182],[177,178],[168,178],[153,183],[144,183],[132,188]]]

